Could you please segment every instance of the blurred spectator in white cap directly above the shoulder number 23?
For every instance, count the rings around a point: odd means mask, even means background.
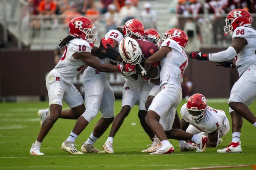
[[[108,12],[105,14],[106,21],[106,31],[114,30],[117,27],[117,21],[119,19],[119,14],[116,12],[116,5],[110,4],[108,6]]]

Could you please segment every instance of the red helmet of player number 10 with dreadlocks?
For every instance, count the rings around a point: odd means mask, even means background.
[[[69,34],[88,42],[95,41],[97,33],[93,32],[94,28],[92,21],[84,16],[78,16],[69,22]]]

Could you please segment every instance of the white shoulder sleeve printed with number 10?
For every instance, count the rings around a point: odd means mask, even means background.
[[[76,53],[85,53],[92,51],[92,47],[85,40],[76,38],[69,43],[71,43],[70,45],[72,46],[73,51]]]

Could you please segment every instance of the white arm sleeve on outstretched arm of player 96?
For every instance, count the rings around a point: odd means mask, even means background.
[[[218,53],[209,54],[209,61],[221,62],[228,61],[237,55],[237,51],[233,47],[228,47],[225,51],[220,51]]]

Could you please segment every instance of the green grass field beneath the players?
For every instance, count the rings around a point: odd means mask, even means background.
[[[224,110],[231,123],[226,101],[225,99],[208,100],[208,105]],[[179,105],[178,112],[184,103],[185,100]],[[252,167],[242,167],[242,165],[256,164],[256,128],[246,120],[244,120],[242,128],[241,154],[219,154],[216,152],[217,149],[223,149],[231,142],[231,128],[228,135],[223,137],[223,142],[218,148],[207,148],[204,153],[181,152],[176,140],[170,140],[175,148],[173,154],[149,155],[149,153],[141,153],[143,149],[149,147],[147,144],[151,144],[151,141],[140,126],[137,106],[132,109],[114,138],[115,154],[70,155],[60,150],[61,144],[69,136],[75,120],[59,119],[43,141],[40,150],[45,155],[31,156],[29,154],[31,144],[36,141],[40,130],[37,112],[39,109],[47,107],[48,102],[0,103],[0,169],[180,170],[240,165],[241,167],[230,169],[252,170]],[[68,107],[64,105],[63,109],[68,109]],[[116,100],[115,109],[117,114],[121,109],[121,100]],[[250,106],[250,109],[256,113],[256,102]],[[82,142],[88,139],[99,118],[100,114],[79,135],[76,140],[79,150]],[[136,125],[131,125],[132,123],[136,123]],[[96,148],[102,149],[102,145],[109,135],[109,130],[110,128],[97,140]]]

